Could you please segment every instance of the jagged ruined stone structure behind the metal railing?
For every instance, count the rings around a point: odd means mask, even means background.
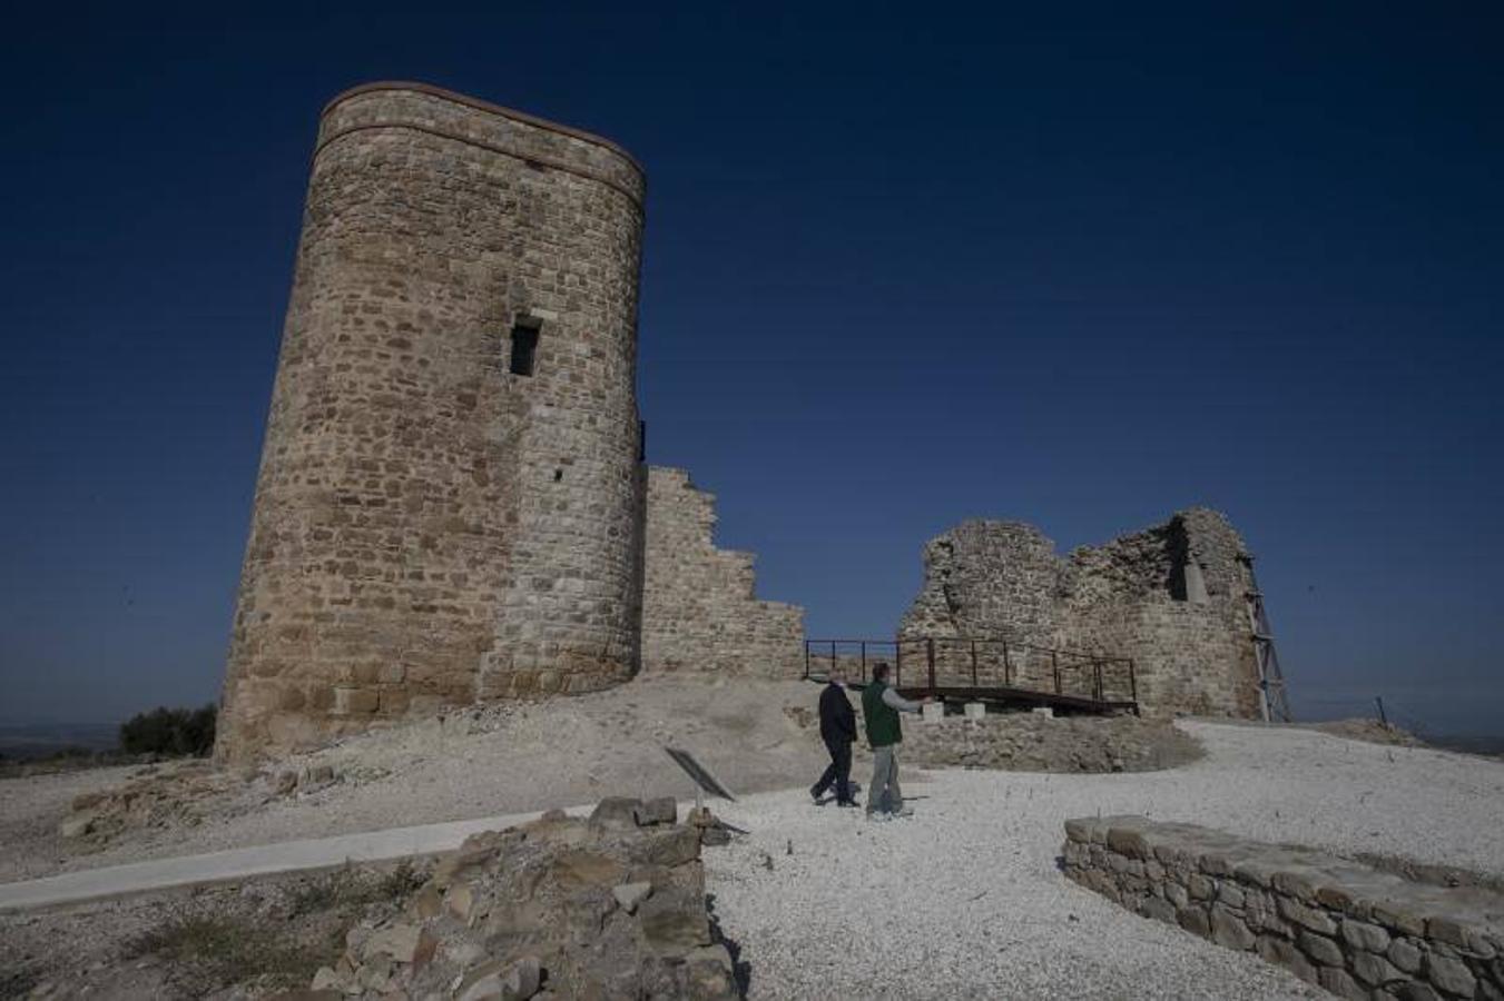
[[[899,637],[1008,640],[1015,676],[1032,687],[1048,684],[1048,655],[1027,646],[1128,657],[1146,714],[1254,717],[1245,556],[1227,519],[1205,508],[1068,558],[1032,525],[966,522],[925,547],[925,583]]]

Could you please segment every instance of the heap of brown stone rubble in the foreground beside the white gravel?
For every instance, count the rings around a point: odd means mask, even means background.
[[[740,998],[710,918],[702,828],[672,800],[602,800],[475,834],[387,920],[352,927],[328,996]]]

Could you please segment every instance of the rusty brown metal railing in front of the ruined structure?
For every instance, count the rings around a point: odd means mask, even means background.
[[[961,687],[1009,688],[1093,702],[1139,700],[1139,679],[1131,657],[1108,657],[996,637],[902,636],[892,640],[805,640],[805,678],[829,664],[832,669],[845,669],[865,684],[877,663],[887,663],[893,669],[895,688],[922,688],[929,693]]]

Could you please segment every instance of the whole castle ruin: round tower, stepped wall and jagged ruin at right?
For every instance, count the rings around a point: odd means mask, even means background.
[[[803,609],[758,598],[714,497],[645,463],[644,185],[609,140],[426,84],[325,107],[221,759],[641,672],[806,670]],[[1011,643],[1011,681],[1056,691],[1065,657],[1101,705],[1253,715],[1250,589],[1214,511],[1068,558],[967,522],[926,547],[898,637]]]

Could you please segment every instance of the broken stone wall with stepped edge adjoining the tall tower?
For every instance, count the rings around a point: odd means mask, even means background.
[[[714,547],[716,499],[648,469],[642,669],[797,678],[805,610],[758,601],[752,555]]]

